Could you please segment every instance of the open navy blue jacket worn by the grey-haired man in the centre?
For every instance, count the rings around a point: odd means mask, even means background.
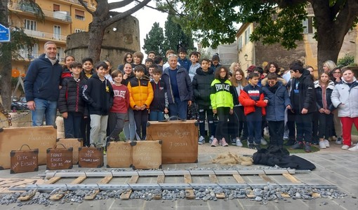
[[[176,80],[178,83],[179,97],[180,101],[192,101],[193,92],[192,92],[192,81],[190,76],[187,73],[187,70],[178,66],[178,72],[176,73]],[[164,69],[163,75],[161,75],[161,80],[164,80],[166,83],[166,92],[168,94],[168,103],[174,104],[173,91],[171,90],[171,78],[169,76],[170,67]]]

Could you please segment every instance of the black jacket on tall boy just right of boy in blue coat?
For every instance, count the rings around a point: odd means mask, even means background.
[[[296,84],[298,84],[297,87]],[[295,90],[298,90],[299,94],[297,104],[295,104],[296,102],[294,99]],[[305,108],[307,109],[307,113],[317,111],[316,95],[314,93],[314,84],[310,71],[305,70],[300,78],[292,79],[290,99],[293,110],[298,110],[300,112]]]

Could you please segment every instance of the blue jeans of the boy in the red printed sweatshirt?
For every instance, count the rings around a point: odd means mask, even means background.
[[[124,120],[126,119],[126,113],[114,113],[110,112],[108,116],[108,127],[110,128],[111,139],[119,141],[119,134],[122,132],[124,127]]]

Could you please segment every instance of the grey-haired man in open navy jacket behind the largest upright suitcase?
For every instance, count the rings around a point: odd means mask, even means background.
[[[169,67],[161,78],[166,83],[169,102],[169,116],[187,118],[187,106],[192,105],[192,81],[187,70],[178,66],[178,55],[168,55]]]

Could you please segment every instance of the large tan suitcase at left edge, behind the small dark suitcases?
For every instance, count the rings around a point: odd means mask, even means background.
[[[0,169],[10,169],[11,151],[23,144],[39,149],[39,165],[46,165],[47,148],[56,146],[56,129],[53,126],[9,127],[0,129]]]

